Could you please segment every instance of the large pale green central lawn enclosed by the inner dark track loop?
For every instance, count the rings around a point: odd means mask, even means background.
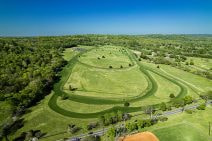
[[[125,71],[99,70],[75,65],[70,78],[64,85],[77,88],[76,95],[126,99],[139,95],[147,88],[147,81],[138,67]]]

